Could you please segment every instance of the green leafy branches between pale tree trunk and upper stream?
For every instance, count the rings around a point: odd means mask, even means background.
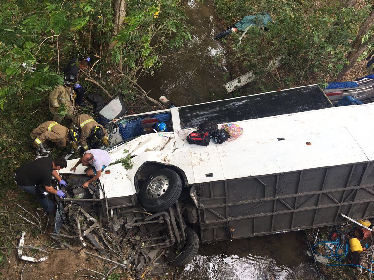
[[[162,64],[161,52],[173,52],[191,40],[191,27],[184,23],[186,15],[178,3],[130,0],[124,28],[112,40],[115,45],[111,50],[112,61],[119,63],[122,58],[126,72],[136,71],[138,67],[147,70]],[[158,17],[154,18],[158,11]]]

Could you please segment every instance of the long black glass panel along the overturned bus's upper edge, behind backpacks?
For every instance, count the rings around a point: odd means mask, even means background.
[[[181,128],[211,120],[217,124],[333,107],[317,85],[179,107]]]

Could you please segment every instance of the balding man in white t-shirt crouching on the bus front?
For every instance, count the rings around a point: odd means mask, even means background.
[[[101,172],[104,171],[105,167],[110,164],[109,153],[105,150],[91,149],[83,153],[82,158],[74,165],[70,170],[74,170],[78,165],[88,166],[91,168],[86,169],[87,176],[93,176],[90,180],[86,181],[82,187],[86,188],[96,179],[100,178]]]

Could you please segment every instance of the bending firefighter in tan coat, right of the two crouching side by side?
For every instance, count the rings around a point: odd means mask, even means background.
[[[91,137],[94,141],[102,141],[105,146],[108,146],[108,133],[102,125],[98,124],[92,116],[82,114],[76,116],[71,124],[75,129],[80,129],[80,144],[86,151],[89,149],[87,139]]]

